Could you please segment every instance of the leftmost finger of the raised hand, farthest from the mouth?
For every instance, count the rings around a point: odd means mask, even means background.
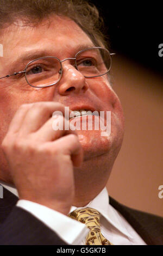
[[[33,103],[23,104],[17,109],[9,125],[9,132],[18,132],[23,123],[24,118],[26,117],[29,108],[31,108],[32,105]]]

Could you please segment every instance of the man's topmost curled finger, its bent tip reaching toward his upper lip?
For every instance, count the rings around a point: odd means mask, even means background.
[[[53,112],[65,114],[65,106],[58,102],[37,102],[27,112],[21,126],[21,133],[35,132],[52,117]]]

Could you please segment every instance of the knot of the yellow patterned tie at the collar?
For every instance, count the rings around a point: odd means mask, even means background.
[[[80,210],[74,210],[69,215],[74,220],[85,223],[90,230],[100,230],[99,228],[99,217],[100,214],[93,208],[84,208]]]

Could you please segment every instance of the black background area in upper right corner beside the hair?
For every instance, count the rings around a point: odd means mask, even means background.
[[[104,17],[111,49],[124,54],[156,74],[163,74],[163,4],[157,1],[89,1]]]

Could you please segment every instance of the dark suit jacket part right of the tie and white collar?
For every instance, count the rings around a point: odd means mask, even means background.
[[[130,209],[109,197],[110,204],[126,218],[147,245],[162,245],[163,218],[146,212]]]

